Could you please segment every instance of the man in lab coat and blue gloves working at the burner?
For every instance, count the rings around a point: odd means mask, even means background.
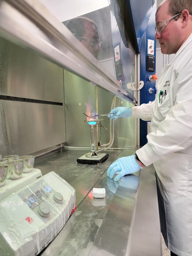
[[[135,156],[117,159],[107,175],[113,178],[120,172],[117,181],[153,163],[166,245],[171,255],[192,256],[192,0],[163,1],[156,12],[155,31],[161,52],[175,53],[158,79],[160,99],[109,114],[115,119],[151,118],[151,133]]]

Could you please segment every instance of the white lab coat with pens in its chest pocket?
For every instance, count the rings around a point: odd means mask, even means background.
[[[156,170],[167,247],[179,256],[192,256],[192,34],[163,69],[157,89],[153,103],[133,107],[132,116],[144,120],[153,108],[148,143],[136,153]],[[165,90],[159,102],[159,92]]]

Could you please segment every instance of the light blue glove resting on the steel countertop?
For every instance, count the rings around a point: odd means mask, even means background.
[[[112,179],[116,172],[120,172],[114,181],[118,181],[125,174],[135,173],[141,169],[139,163],[135,159],[135,155],[129,157],[121,157],[114,161],[107,170],[107,176]]]

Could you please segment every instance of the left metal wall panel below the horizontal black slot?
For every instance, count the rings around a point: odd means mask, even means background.
[[[63,106],[0,101],[0,152],[28,155],[65,141]]]

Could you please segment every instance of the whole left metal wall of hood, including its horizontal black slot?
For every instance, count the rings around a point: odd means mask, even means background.
[[[63,69],[5,39],[0,45],[0,153],[65,142]]]

